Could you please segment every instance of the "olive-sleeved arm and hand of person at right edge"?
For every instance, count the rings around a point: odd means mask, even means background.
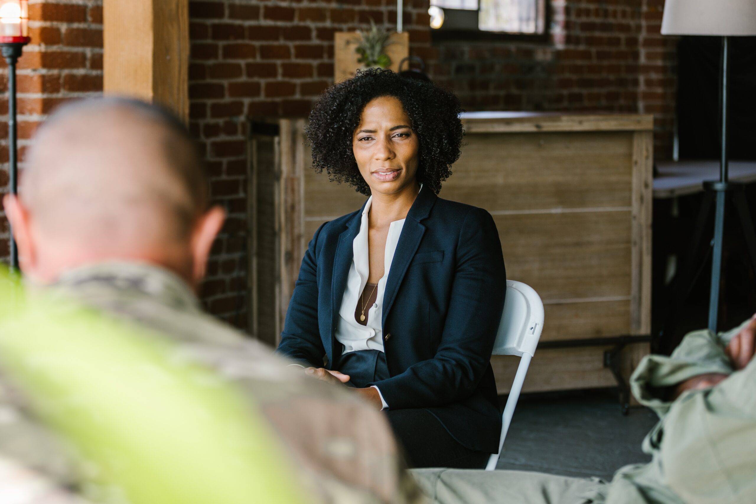
[[[641,360],[631,377],[633,394],[664,415],[683,392],[711,388],[745,367],[743,363],[753,355],[754,329],[756,322],[751,319],[728,332],[690,332],[670,357],[648,355]]]

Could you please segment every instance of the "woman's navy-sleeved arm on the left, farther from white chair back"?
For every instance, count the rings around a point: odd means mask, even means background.
[[[325,349],[318,330],[318,235],[315,231],[299,267],[276,352],[304,367],[323,367]]]

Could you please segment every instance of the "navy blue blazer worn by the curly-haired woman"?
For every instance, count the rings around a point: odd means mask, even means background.
[[[364,206],[363,206],[364,209]],[[327,369],[339,361],[336,322],[362,210],[323,224],[296,281],[278,352]],[[496,453],[501,428],[491,351],[506,274],[494,219],[421,190],[383,296],[389,379],[374,382],[392,410],[425,408],[471,450]]]

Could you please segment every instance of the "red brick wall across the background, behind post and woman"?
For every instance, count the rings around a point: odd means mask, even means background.
[[[550,42],[438,42],[428,0],[405,0],[412,53],[468,110],[655,113],[657,154],[671,152],[674,40],[658,36],[663,0],[550,0]],[[303,116],[333,82],[333,32],[394,24],[393,0],[190,0],[191,130],[203,146],[211,194],[229,219],[215,243],[203,301],[246,324],[246,122]],[[32,0],[20,61],[21,146],[52,107],[102,89],[101,0]],[[5,89],[0,73],[0,88]],[[7,114],[0,100],[0,115]],[[5,125],[3,125],[5,126]],[[0,128],[0,192],[7,190]],[[0,258],[8,226],[0,212]]]

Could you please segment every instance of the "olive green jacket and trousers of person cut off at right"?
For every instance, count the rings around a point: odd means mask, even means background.
[[[756,359],[735,372],[724,352],[742,326],[719,334],[692,332],[671,357],[641,361],[631,387],[659,416],[643,441],[652,462],[627,465],[610,483],[516,471],[412,472],[442,504],[754,504]],[[668,400],[672,386],[705,373],[730,377]]]

